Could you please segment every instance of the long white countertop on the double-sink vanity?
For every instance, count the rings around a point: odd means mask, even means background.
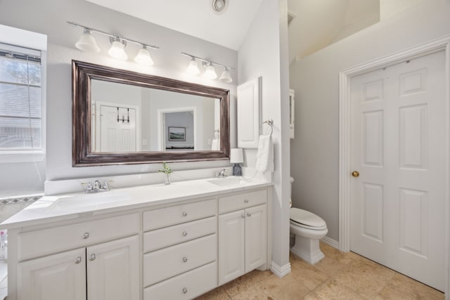
[[[214,184],[213,181],[219,184]],[[247,181],[229,176],[228,178],[178,181],[170,185],[155,184],[116,188],[108,192],[91,194],[72,193],[44,196],[1,223],[0,228],[11,229],[55,221],[82,219],[86,216],[98,216],[269,185],[272,183],[268,181],[255,179]]]

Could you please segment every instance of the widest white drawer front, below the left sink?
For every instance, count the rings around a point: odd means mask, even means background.
[[[56,253],[139,233],[139,214],[20,233],[18,259]]]

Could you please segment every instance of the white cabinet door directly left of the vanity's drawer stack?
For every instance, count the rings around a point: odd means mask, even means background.
[[[89,300],[139,299],[137,235],[88,247],[86,260]]]

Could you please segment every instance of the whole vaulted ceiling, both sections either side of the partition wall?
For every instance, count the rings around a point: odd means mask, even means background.
[[[238,50],[262,0],[86,0],[148,22]],[[288,0],[290,60],[302,58],[378,22],[380,0]]]

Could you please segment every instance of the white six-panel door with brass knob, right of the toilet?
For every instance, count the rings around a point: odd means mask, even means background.
[[[351,79],[353,252],[444,290],[445,53]]]

